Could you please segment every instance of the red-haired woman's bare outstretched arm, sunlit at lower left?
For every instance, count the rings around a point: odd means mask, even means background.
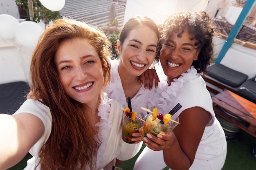
[[[0,170],[21,161],[44,130],[43,122],[30,113],[0,114]]]

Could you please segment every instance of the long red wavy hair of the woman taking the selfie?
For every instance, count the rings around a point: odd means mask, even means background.
[[[105,87],[110,80],[110,42],[103,32],[70,19],[55,20],[43,32],[30,66],[31,91],[49,106],[53,119],[50,137],[39,153],[37,166],[42,170],[93,170],[96,165],[101,142],[86,114],[90,108],[65,93],[54,65],[54,55],[61,42],[75,37],[85,38],[94,46],[101,56]]]

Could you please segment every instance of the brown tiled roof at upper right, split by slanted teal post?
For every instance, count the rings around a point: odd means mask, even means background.
[[[215,19],[214,23],[216,24],[217,29],[220,30],[220,33],[228,36],[231,29],[234,25],[230,24],[226,20],[219,20]],[[236,36],[236,39],[244,41],[244,42],[251,42],[253,44],[256,44],[256,28],[252,28],[247,25],[243,25],[240,29],[238,35]]]

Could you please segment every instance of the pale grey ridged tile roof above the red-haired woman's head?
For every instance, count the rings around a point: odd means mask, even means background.
[[[112,0],[65,0],[65,6],[59,12],[65,18],[73,18],[102,27],[112,22],[109,20],[112,3],[115,4],[118,27],[121,27],[124,22],[126,7]]]

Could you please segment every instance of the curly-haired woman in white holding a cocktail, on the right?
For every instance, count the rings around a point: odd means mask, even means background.
[[[159,25],[161,82],[148,100],[152,105],[177,103],[180,124],[170,135],[147,134],[146,147],[134,170],[221,170],[227,154],[225,133],[216,119],[211,95],[200,73],[213,55],[215,26],[204,11],[173,13]]]

